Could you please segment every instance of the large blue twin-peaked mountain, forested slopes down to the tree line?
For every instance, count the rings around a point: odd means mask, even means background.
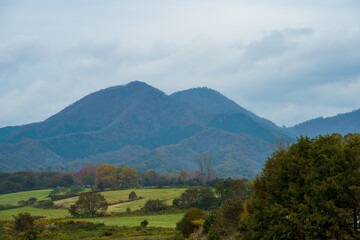
[[[194,170],[211,153],[221,176],[254,176],[271,143],[287,136],[269,120],[208,89],[174,93],[135,81],[85,96],[43,122],[0,128],[0,171],[129,165]]]

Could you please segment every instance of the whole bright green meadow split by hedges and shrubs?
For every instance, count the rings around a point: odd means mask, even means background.
[[[20,200],[28,200],[31,197],[35,197],[38,200],[49,199],[47,196],[52,189],[35,190],[11,194],[0,195],[1,204],[17,205]],[[130,192],[135,191],[138,197],[143,197],[135,201],[128,201]],[[101,194],[105,199],[113,205],[109,205],[107,212],[125,212],[126,208],[130,208],[132,211],[140,209],[144,203],[149,199],[161,199],[165,200],[167,204],[171,205],[172,200],[181,195],[184,192],[184,188],[170,188],[170,189],[128,189],[128,190],[114,190],[105,191]],[[45,216],[46,218],[67,218],[71,217],[67,208],[76,202],[78,197],[72,197],[55,201],[55,205],[60,207],[59,209],[42,209],[32,206],[26,206],[21,208],[14,208],[0,211],[0,220],[13,219],[13,216],[18,213],[28,212],[33,216]],[[118,203],[123,201],[122,203]],[[117,204],[114,204],[117,203]],[[115,216],[115,217],[98,217],[87,218],[84,220],[105,223],[106,225],[117,226],[139,226],[143,220],[149,221],[149,226],[152,227],[170,227],[174,228],[176,222],[178,222],[184,213],[172,213],[161,215],[141,215],[141,216]]]

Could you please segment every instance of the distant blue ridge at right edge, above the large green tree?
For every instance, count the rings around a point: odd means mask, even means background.
[[[338,114],[333,117],[312,119],[288,128],[288,131],[289,134],[293,136],[302,135],[309,137],[332,133],[340,133],[342,135],[359,133],[360,109],[349,113]]]

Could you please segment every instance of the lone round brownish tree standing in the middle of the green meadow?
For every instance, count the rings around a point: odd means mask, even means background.
[[[98,192],[81,193],[79,200],[76,201],[69,209],[70,213],[76,216],[76,212],[86,217],[94,217],[99,213],[104,213],[108,208],[104,196]]]

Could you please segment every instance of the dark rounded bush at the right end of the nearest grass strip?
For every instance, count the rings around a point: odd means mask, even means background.
[[[182,235],[186,238],[197,228],[193,221],[204,219],[204,212],[201,209],[190,208],[184,217],[176,224],[176,229],[180,230]]]

